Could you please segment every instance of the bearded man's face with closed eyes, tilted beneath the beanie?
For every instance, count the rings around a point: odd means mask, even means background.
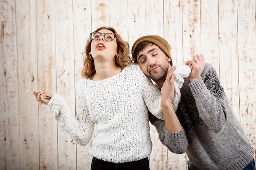
[[[146,76],[154,82],[164,81],[171,59],[155,44],[148,44],[137,55],[137,62]]]

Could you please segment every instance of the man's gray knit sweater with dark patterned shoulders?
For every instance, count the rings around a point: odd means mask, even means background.
[[[176,114],[184,128],[180,132],[183,138],[175,137],[177,133],[164,128],[164,121],[150,115],[162,143],[175,153],[187,147],[192,170],[245,168],[254,159],[254,147],[236,119],[215,69],[206,63],[201,77],[192,83],[186,78],[180,91]],[[181,135],[184,131],[186,135]]]

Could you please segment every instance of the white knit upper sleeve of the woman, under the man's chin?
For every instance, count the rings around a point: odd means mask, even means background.
[[[137,65],[137,76],[141,88],[143,100],[150,111],[158,119],[164,120],[161,106],[161,91],[153,84],[140,67]]]

